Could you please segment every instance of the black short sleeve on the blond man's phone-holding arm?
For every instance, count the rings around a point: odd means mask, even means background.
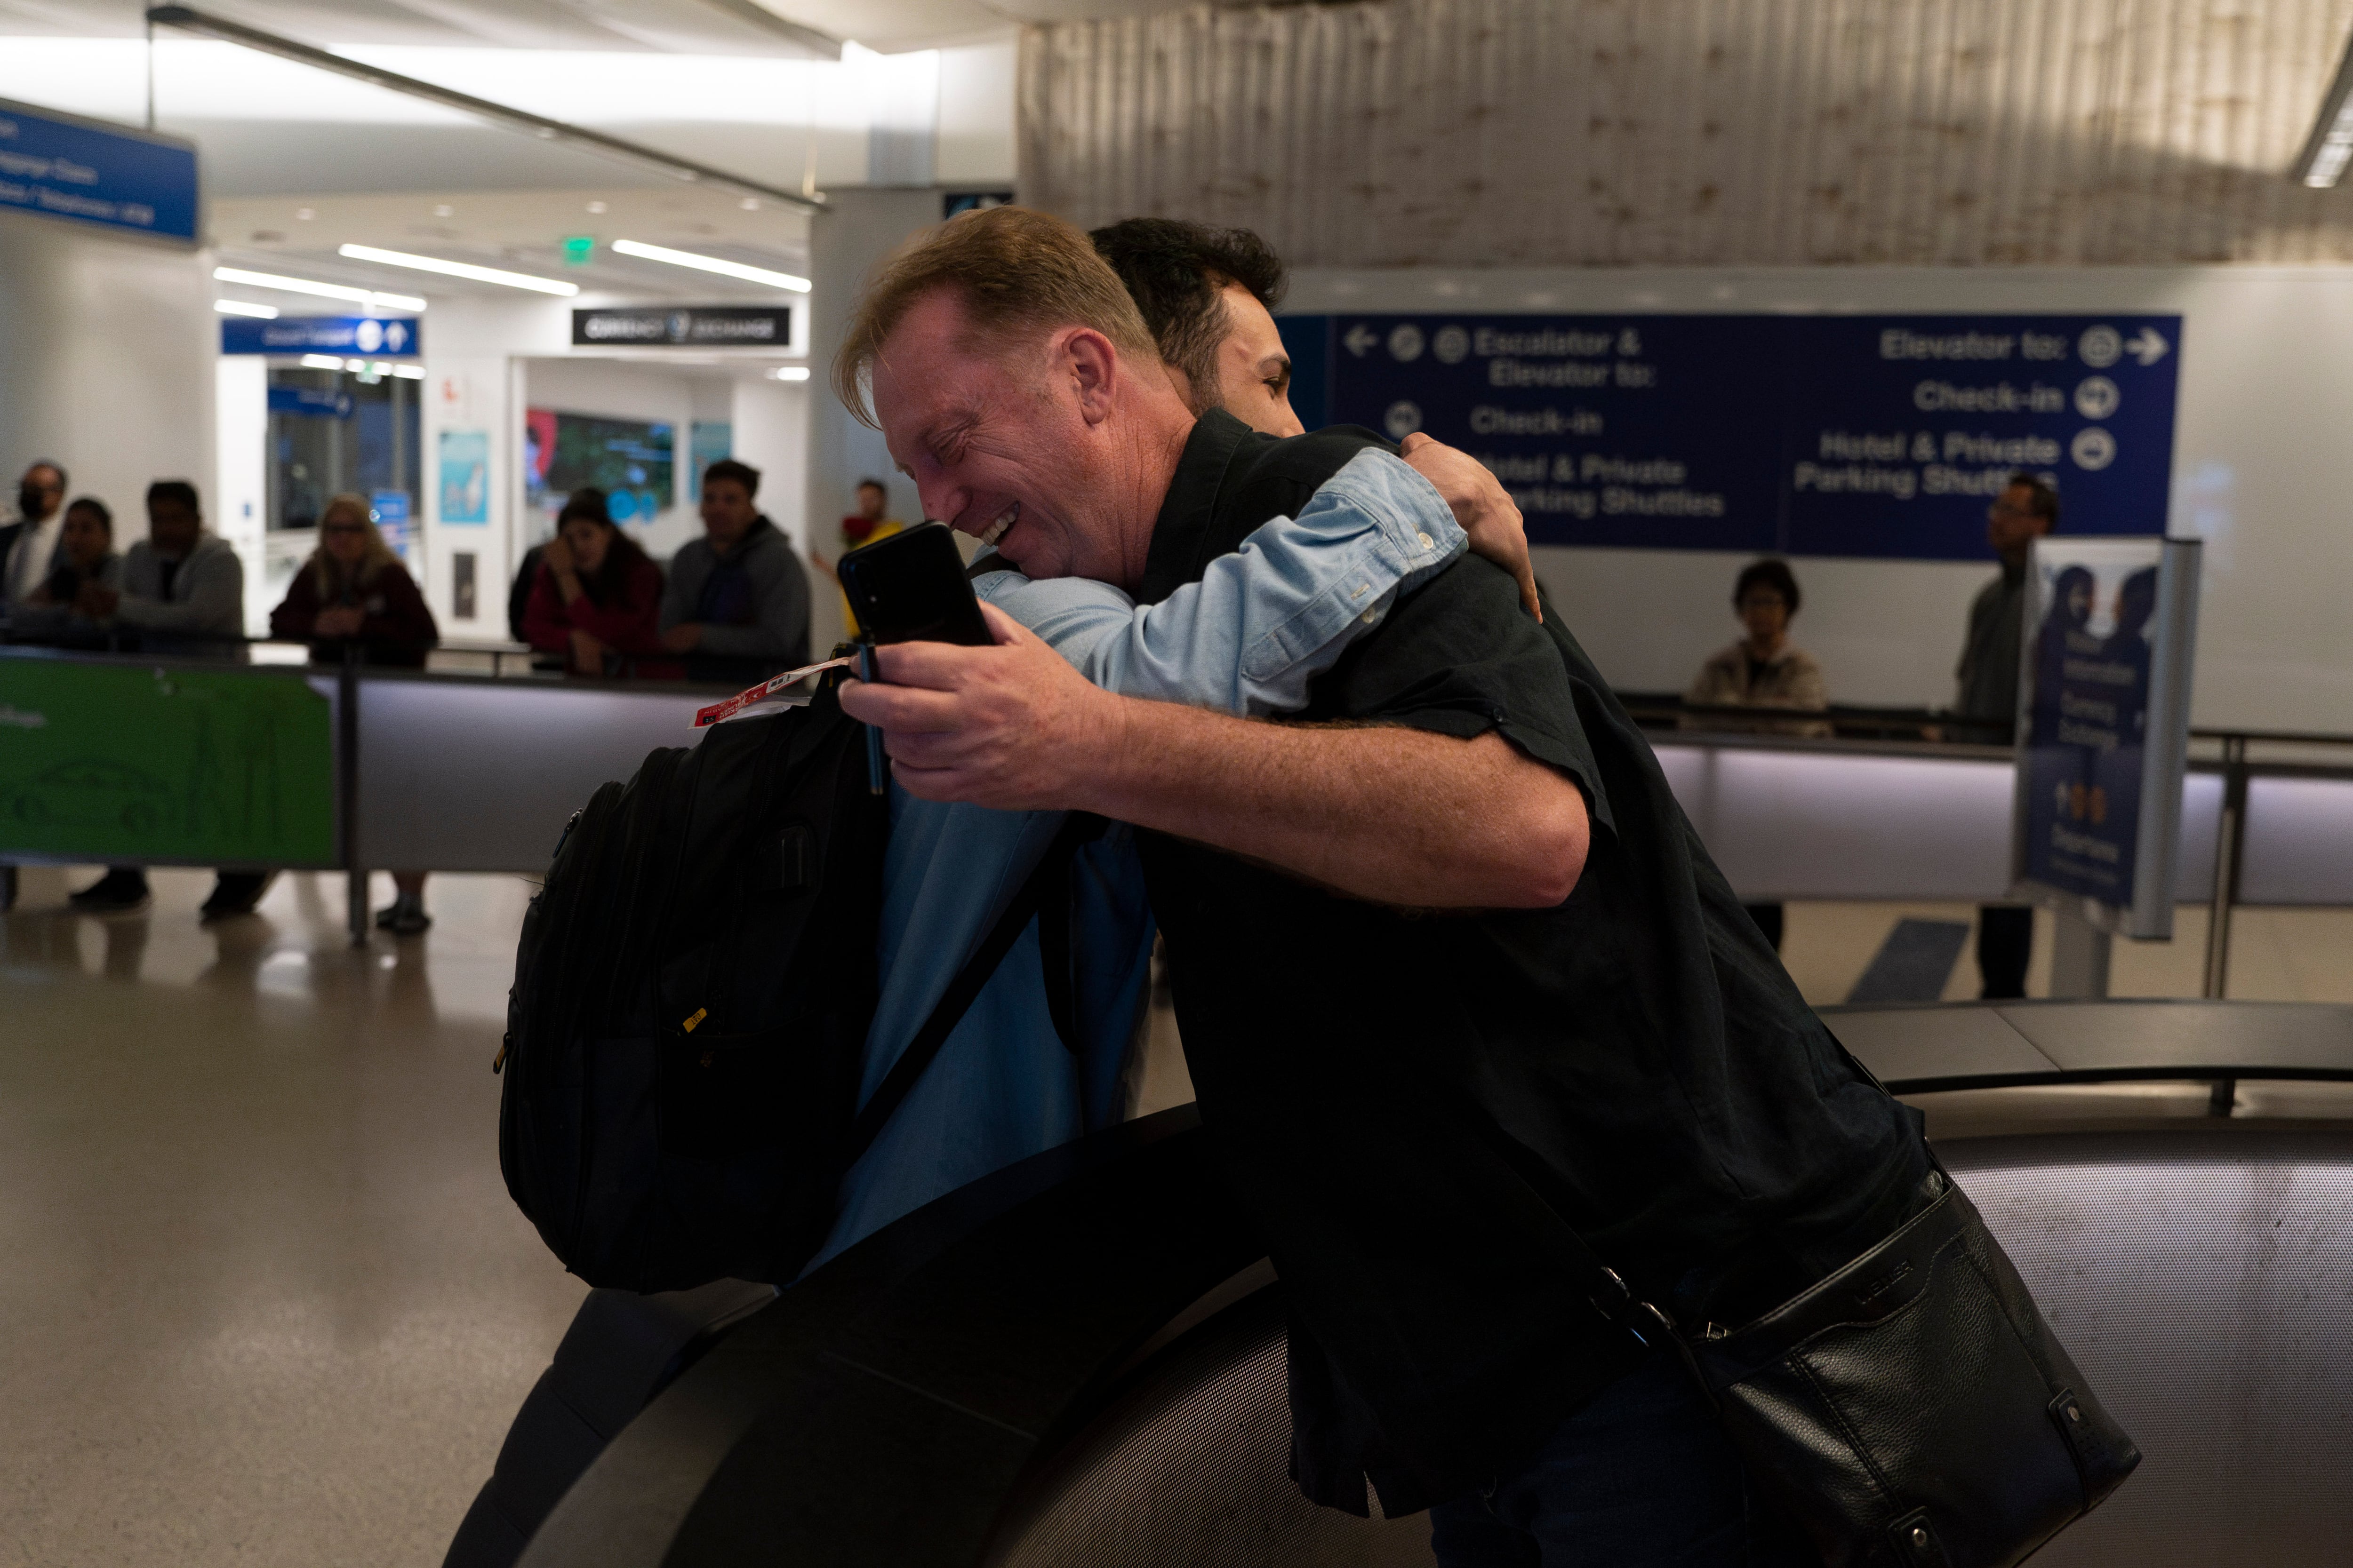
[[[1308,719],[1381,719],[1464,741],[1489,729],[1567,773],[1609,820],[1577,677],[1501,567],[1466,555],[1365,635],[1315,686]]]

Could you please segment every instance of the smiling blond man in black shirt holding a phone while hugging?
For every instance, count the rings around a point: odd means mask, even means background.
[[[932,517],[1146,604],[1384,447],[1195,416],[1085,235],[1021,209],[875,275],[835,367],[856,409],[868,381]],[[1685,1331],[1748,1321],[1927,1201],[1918,1119],[1558,616],[1457,559],[1304,722],[1099,691],[991,625],[885,649],[842,708],[913,795],[1144,830],[1202,1128],[1294,1309],[1301,1488],[1431,1507],[1447,1568],[1802,1561],[1673,1356],[1595,1309],[1579,1239]]]

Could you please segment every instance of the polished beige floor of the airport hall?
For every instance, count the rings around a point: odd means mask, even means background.
[[[33,870],[0,924],[0,1568],[433,1568],[581,1295],[496,1164],[529,886],[435,877],[431,936],[351,950],[341,877],[212,929],[207,882],[89,919]],[[1974,910],[1791,905],[1807,997],[1904,914]],[[2115,992],[2195,994],[2202,943],[2118,945]],[[2242,912],[2233,994],[2353,1001],[2348,952],[2353,912]],[[1153,1025],[1146,1110],[1191,1095]]]

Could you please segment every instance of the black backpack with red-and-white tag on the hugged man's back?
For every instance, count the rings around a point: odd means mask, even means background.
[[[1073,818],[859,1107],[889,799],[838,672],[652,752],[572,816],[522,919],[496,1070],[506,1190],[591,1286],[786,1284],[842,1171],[1099,830]],[[1047,971],[1068,1018],[1068,947]],[[1068,1041],[1068,1030],[1064,1030]]]

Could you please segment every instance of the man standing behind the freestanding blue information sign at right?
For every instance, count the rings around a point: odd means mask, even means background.
[[[2059,491],[2042,475],[2014,473],[1986,510],[1986,543],[2002,574],[1969,602],[1969,632],[1960,644],[1953,677],[1960,693],[1953,712],[1981,724],[1955,738],[2009,741],[2019,717],[2019,639],[2026,635],[2026,557],[2038,538],[2059,527]],[[2026,966],[2035,950],[2035,912],[2026,905],[1988,903],[1977,910],[1977,976],[1981,997],[2005,1001],[2026,994]]]

